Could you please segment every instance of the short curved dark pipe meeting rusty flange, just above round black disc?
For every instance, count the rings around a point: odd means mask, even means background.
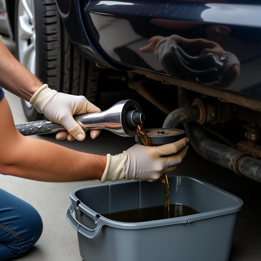
[[[163,123],[163,128],[173,128],[176,129],[183,123],[189,121],[195,121],[200,118],[200,109],[198,105],[189,105],[178,108],[167,116]]]

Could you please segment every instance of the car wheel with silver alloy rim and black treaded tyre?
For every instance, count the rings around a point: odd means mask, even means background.
[[[15,6],[19,62],[51,89],[84,95],[95,104],[99,69],[70,42],[55,0],[16,0]],[[44,118],[28,102],[22,105],[29,121]]]

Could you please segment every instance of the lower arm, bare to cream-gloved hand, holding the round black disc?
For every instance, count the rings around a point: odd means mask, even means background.
[[[174,170],[188,150],[188,139],[183,138],[158,147],[136,144],[115,156],[82,153],[21,135],[14,126],[5,97],[0,100],[0,112],[1,174],[49,182],[154,181],[162,173]]]

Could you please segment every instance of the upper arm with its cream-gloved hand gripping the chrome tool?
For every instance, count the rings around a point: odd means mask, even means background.
[[[0,40],[0,82],[4,89],[30,102],[46,118],[63,125],[67,131],[60,132],[56,139],[84,140],[85,132],[73,119],[73,115],[100,111],[84,96],[60,93],[48,88],[19,63]],[[91,130],[95,139],[100,130]]]

